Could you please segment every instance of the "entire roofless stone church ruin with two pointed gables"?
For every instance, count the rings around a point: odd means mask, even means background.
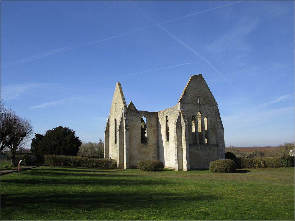
[[[104,158],[110,157],[119,168],[150,159],[175,170],[207,169],[224,159],[222,121],[203,76],[191,76],[178,103],[158,112],[127,106],[117,82],[104,131]]]

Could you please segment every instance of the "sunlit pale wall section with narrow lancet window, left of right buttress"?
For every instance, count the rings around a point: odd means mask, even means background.
[[[175,169],[175,138],[174,124],[179,115],[179,103],[171,108],[158,111],[158,159],[166,168]],[[166,141],[166,116],[169,117],[169,141]]]

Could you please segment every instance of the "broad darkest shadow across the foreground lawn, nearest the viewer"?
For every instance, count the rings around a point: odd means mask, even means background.
[[[136,183],[134,185],[137,185]],[[45,210],[58,208],[59,210],[81,209],[95,210],[97,208],[111,207],[114,210],[141,210],[151,207],[161,207],[167,204],[194,203],[196,201],[211,202],[219,197],[213,194],[204,194],[201,192],[169,193],[169,192],[128,192],[124,189],[117,191],[99,192],[99,191],[77,191],[60,194],[60,192],[42,192],[40,193],[17,193],[1,194],[1,210],[5,209],[13,212],[17,202],[22,202],[22,210],[29,213],[35,213],[32,207],[41,207]],[[7,208],[8,207],[8,208]]]

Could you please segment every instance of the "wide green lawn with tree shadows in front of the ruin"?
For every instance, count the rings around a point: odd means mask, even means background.
[[[1,220],[294,220],[294,168],[41,166],[1,176]]]

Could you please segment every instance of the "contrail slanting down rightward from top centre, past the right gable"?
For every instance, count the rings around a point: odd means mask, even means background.
[[[232,3],[233,4],[233,3]],[[137,7],[137,6],[136,6]],[[138,7],[137,7],[138,8]],[[215,70],[232,88],[234,88],[240,95],[244,96],[234,85],[232,85],[227,79],[226,77],[224,77],[224,75],[222,75],[206,58],[204,58],[203,56],[199,55],[194,49],[192,49],[191,47],[189,47],[189,45],[187,45],[186,43],[184,43],[183,41],[181,41],[179,38],[177,38],[175,35],[173,35],[171,32],[169,32],[167,29],[165,29],[163,26],[161,26],[160,23],[155,22],[153,19],[151,19],[147,14],[145,14],[145,12],[143,12],[140,8],[138,8],[139,11],[142,12],[142,14],[148,18],[150,21],[152,21],[153,23],[155,23],[155,25],[157,25],[158,27],[160,27],[163,31],[165,31],[167,34],[169,34],[170,37],[172,37],[173,39],[175,39],[176,41],[178,41],[180,44],[182,44],[184,47],[186,47],[187,49],[189,49],[191,52],[193,52],[196,56],[198,56],[199,58],[201,58],[203,61],[205,61],[210,67],[213,68],[213,70]],[[245,97],[245,96],[244,96]]]

